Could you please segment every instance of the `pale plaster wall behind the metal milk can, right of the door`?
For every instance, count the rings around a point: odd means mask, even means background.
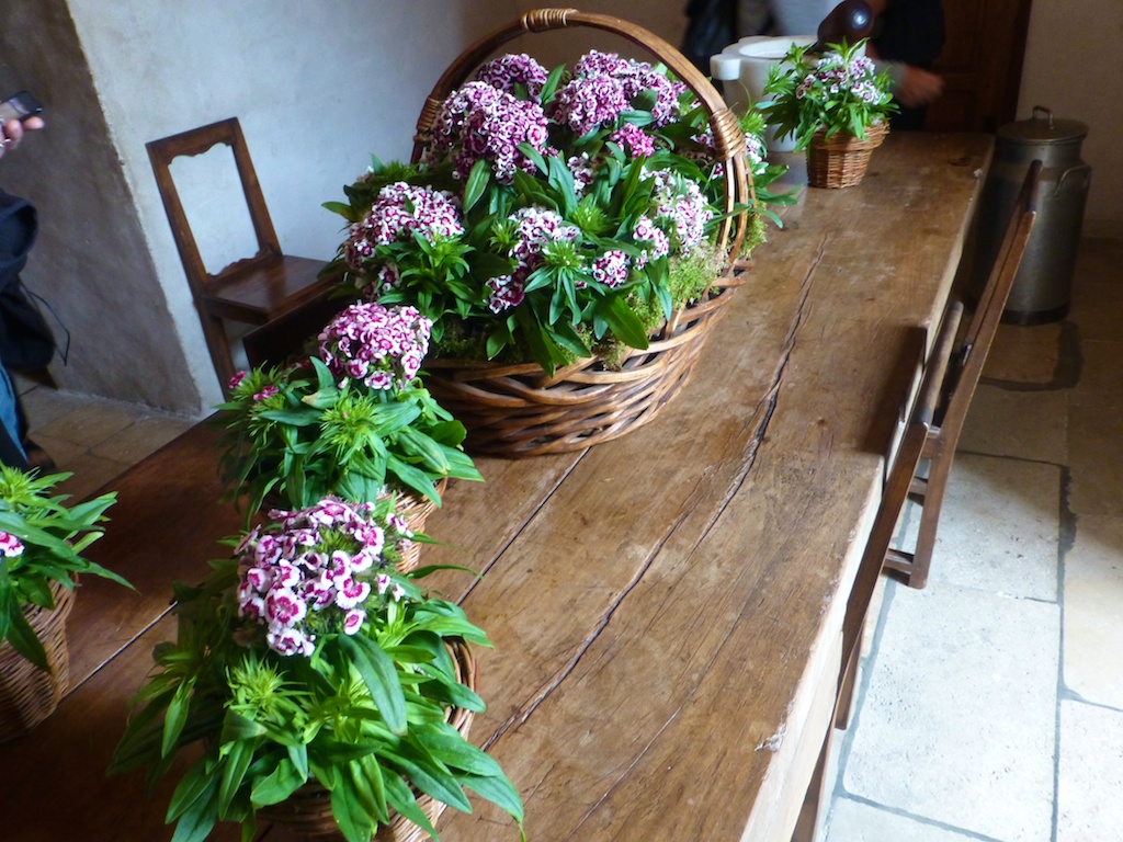
[[[1034,106],[1088,126],[1092,167],[1085,236],[1123,238],[1123,44],[1121,0],[1033,0],[1017,119]]]

